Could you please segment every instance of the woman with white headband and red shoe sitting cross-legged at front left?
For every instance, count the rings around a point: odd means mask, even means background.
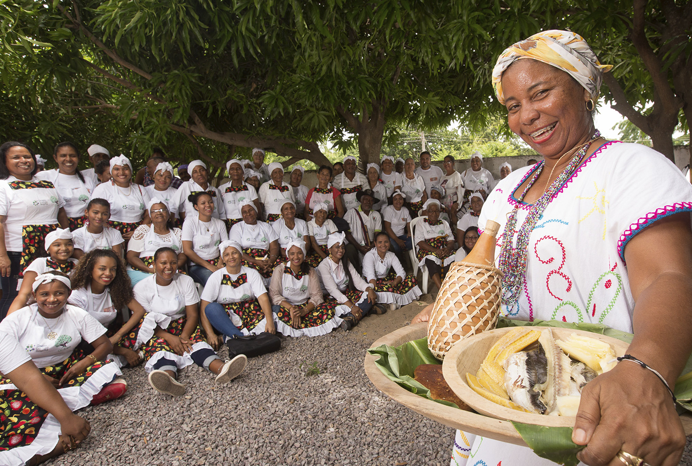
[[[22,348],[26,348],[34,364],[60,391],[72,410],[89,404],[114,400],[127,391],[125,380],[116,379],[120,369],[107,360],[113,345],[105,335],[106,329],[84,309],[67,304],[71,283],[62,272],[51,270],[36,277],[33,284],[34,304],[17,310],[0,322],[0,333],[8,333]],[[78,346],[82,341],[93,346],[93,352],[84,354]],[[0,381],[0,393],[10,404],[26,404],[20,391]],[[9,399],[7,398],[9,397]],[[28,415],[26,423],[19,422],[15,435],[20,441],[33,440],[30,405],[17,409],[17,416]],[[27,438],[26,435],[29,437]]]

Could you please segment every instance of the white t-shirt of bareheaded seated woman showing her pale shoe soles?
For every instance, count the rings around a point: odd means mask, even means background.
[[[156,274],[137,283],[133,290],[134,299],[142,304],[147,313],[161,313],[175,319],[185,315],[185,306],[199,303],[197,287],[192,277],[174,274],[168,286],[156,283]]]

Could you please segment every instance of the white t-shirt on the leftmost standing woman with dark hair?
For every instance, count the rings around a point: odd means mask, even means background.
[[[17,180],[14,176],[0,180],[0,215],[7,216],[5,248],[21,251],[21,229],[24,225],[54,225],[57,211],[65,206],[53,183],[33,178]]]

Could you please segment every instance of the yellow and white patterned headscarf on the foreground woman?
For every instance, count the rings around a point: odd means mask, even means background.
[[[544,30],[512,44],[498,57],[493,68],[493,87],[500,104],[504,104],[502,73],[515,60],[522,58],[532,58],[560,68],[589,91],[593,100],[599,97],[603,73],[612,68],[612,65],[602,65],[599,62],[581,35],[567,30]]]

